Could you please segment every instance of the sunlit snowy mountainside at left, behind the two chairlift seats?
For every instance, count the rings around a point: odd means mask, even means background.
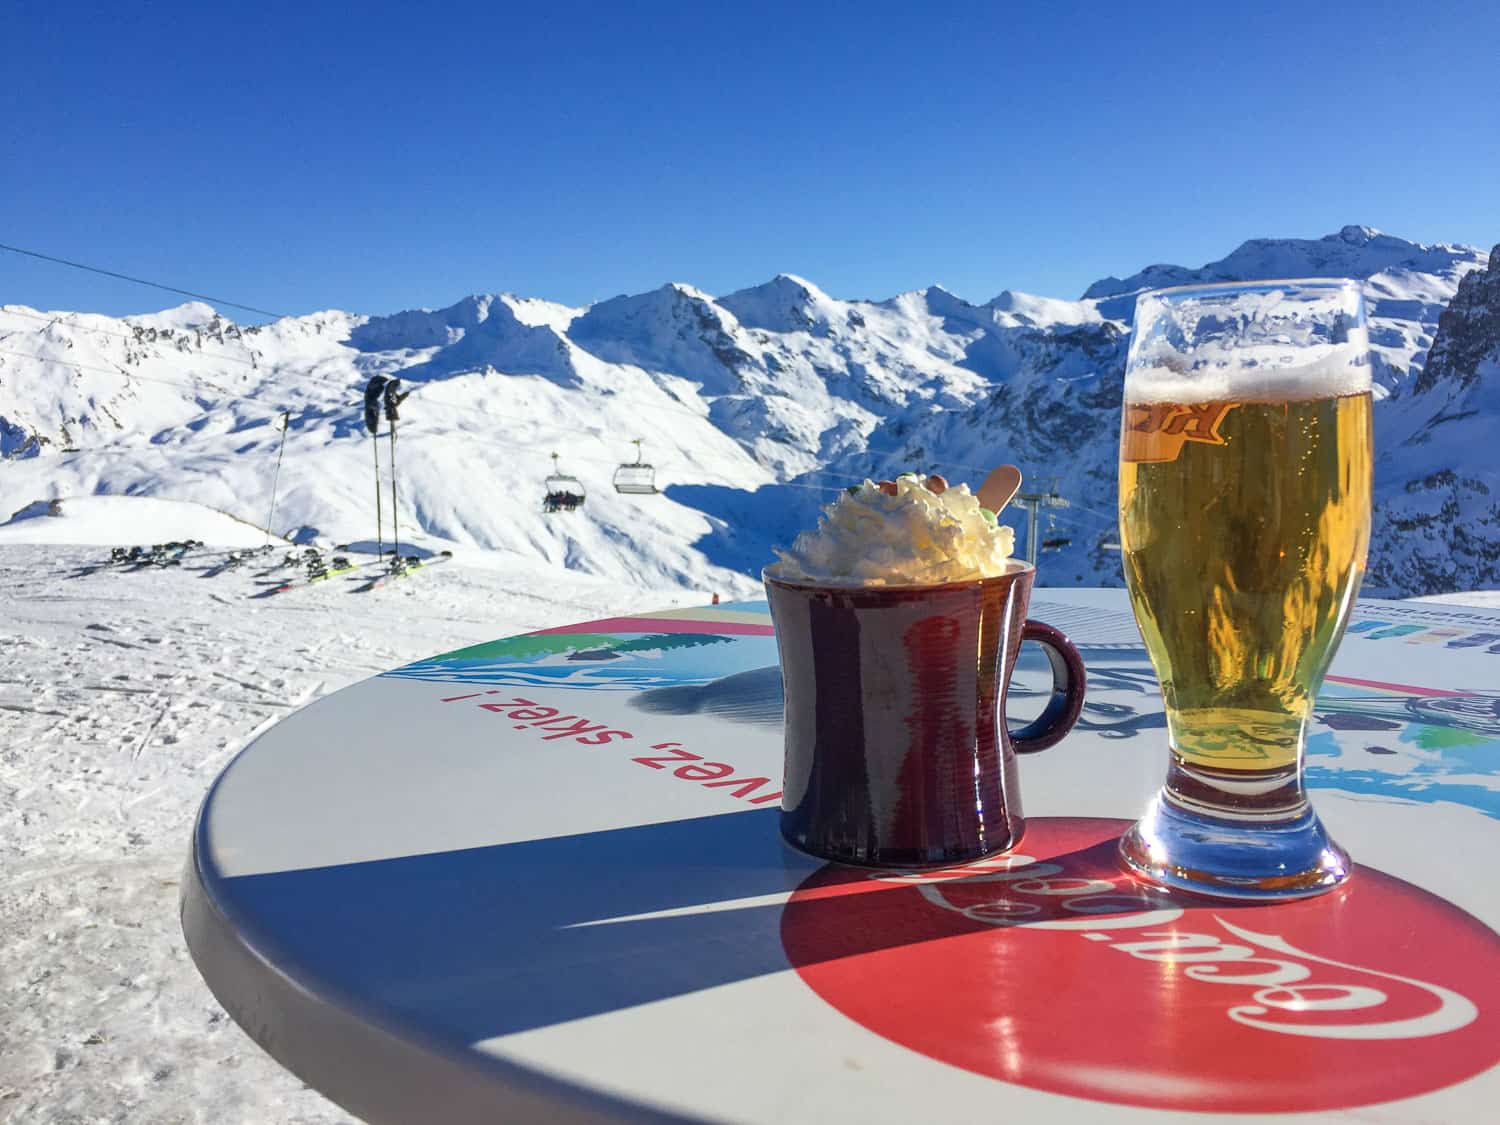
[[[184,306],[171,314],[184,330],[10,306],[0,312],[0,432],[14,459],[0,510],[129,490],[264,525],[285,410],[276,531],[374,538],[374,442],[358,398],[370,375],[399,370],[418,388],[398,432],[408,534],[628,582],[750,586],[693,552],[711,531],[702,513],[662,496],[616,496],[609,480],[636,436],[664,478],[754,484],[771,474],[708,422],[693,384],[580,351],[558,334],[567,314],[471,298],[435,314],[318,314],[240,330]],[[586,518],[540,513],[554,450],[594,498]],[[380,456],[388,537],[384,438]],[[638,538],[654,548],[642,555]]]

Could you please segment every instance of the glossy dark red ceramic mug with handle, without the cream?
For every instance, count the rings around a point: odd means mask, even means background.
[[[968,862],[1024,831],[1016,754],[1078,718],[1078,650],[1026,620],[1036,568],[928,586],[837,586],[765,574],[786,698],[782,836],[870,867]],[[1023,640],[1052,699],[1017,732],[1005,693]]]

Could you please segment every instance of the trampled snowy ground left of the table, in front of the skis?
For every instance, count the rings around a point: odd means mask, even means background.
[[[105,554],[0,546],[0,1120],[348,1122],[228,1018],[183,944],[208,784],[260,730],[370,674],[706,598],[462,561],[264,600],[248,596],[266,564],[69,578]]]

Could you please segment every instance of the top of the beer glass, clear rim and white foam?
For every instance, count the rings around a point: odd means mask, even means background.
[[[1126,402],[1286,402],[1370,386],[1356,282],[1190,285],[1136,302]]]

